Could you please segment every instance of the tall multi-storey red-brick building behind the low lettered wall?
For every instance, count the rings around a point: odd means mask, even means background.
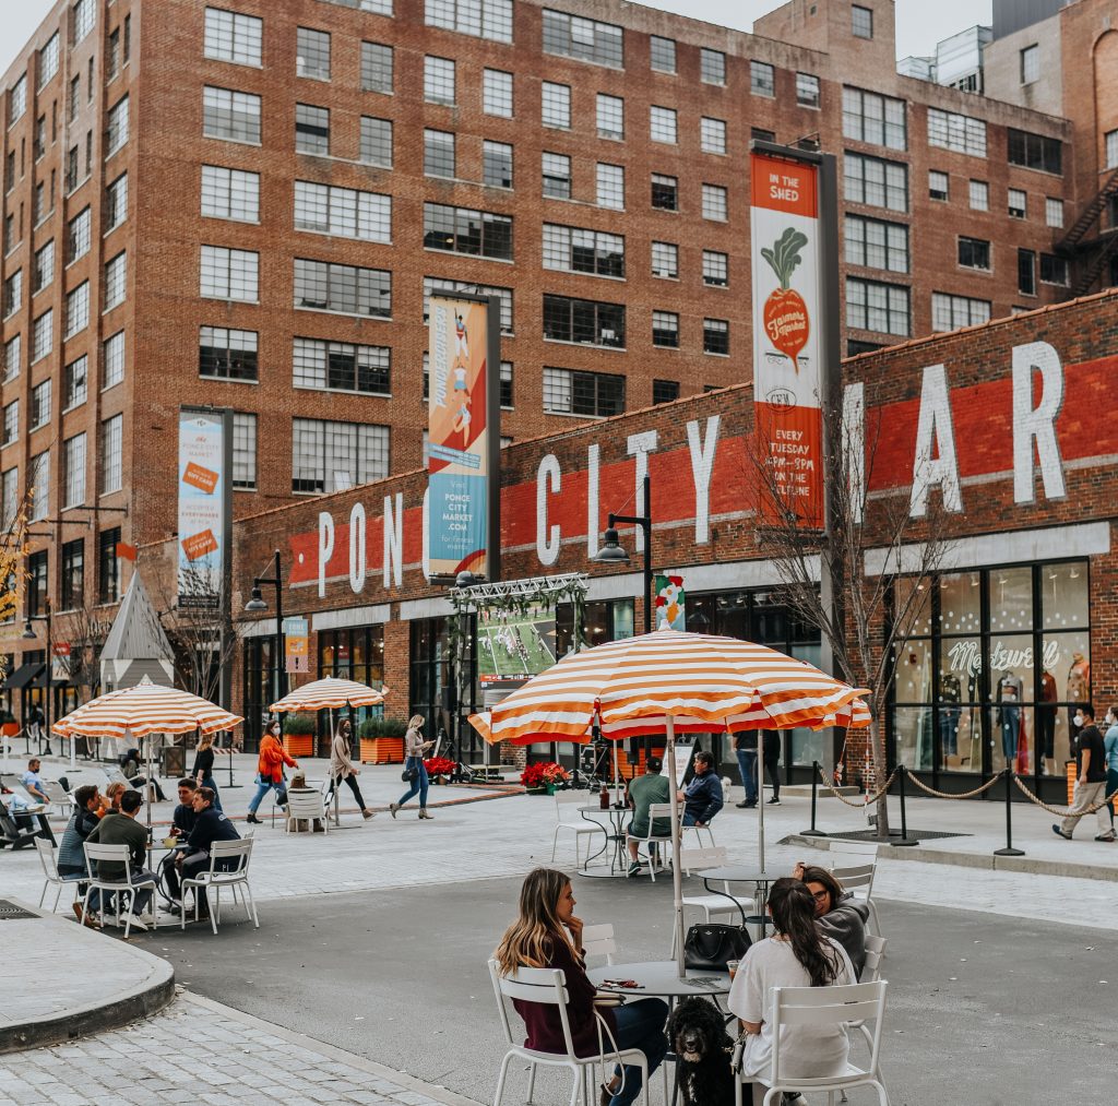
[[[110,618],[117,542],[173,533],[180,405],[236,412],[237,517],[416,469],[432,287],[501,296],[514,442],[749,379],[752,136],[842,158],[851,352],[1067,292],[1021,250],[1078,211],[1071,123],[898,76],[888,0],[756,35],[473,12],[63,0],[20,53],[0,486],[9,517],[35,489],[28,615]],[[45,644],[19,628],[17,668]]]

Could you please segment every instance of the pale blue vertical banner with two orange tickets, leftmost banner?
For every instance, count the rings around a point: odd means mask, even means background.
[[[179,606],[220,606],[230,535],[227,412],[179,410]]]

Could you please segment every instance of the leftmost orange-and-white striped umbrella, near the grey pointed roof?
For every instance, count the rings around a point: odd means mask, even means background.
[[[136,738],[148,734],[203,734],[233,729],[244,719],[207,699],[164,688],[144,677],[133,688],[110,691],[83,703],[51,727],[64,737]]]

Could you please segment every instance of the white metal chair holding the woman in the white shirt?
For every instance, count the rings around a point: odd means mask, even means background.
[[[784,1091],[816,1090],[827,1093],[827,1106],[835,1106],[835,1095],[854,1087],[873,1087],[880,1106],[889,1106],[885,1088],[878,1078],[879,1053],[881,1051],[881,1025],[885,1012],[884,980],[875,983],[854,983],[841,987],[774,987],[769,1023],[773,1028],[773,1066],[769,1077],[746,1076],[750,1083],[767,1087],[764,1106],[779,1102]],[[803,1066],[803,1057],[788,1058],[780,1051],[780,1031],[785,1027],[835,1025],[851,1021],[872,1022],[870,1034],[870,1065],[859,1068],[846,1062],[846,1070],[837,1076],[815,1078],[793,1077],[786,1067]],[[735,1102],[741,1104],[741,1078],[735,1081]],[[812,1100],[815,1100],[812,1095]]]

